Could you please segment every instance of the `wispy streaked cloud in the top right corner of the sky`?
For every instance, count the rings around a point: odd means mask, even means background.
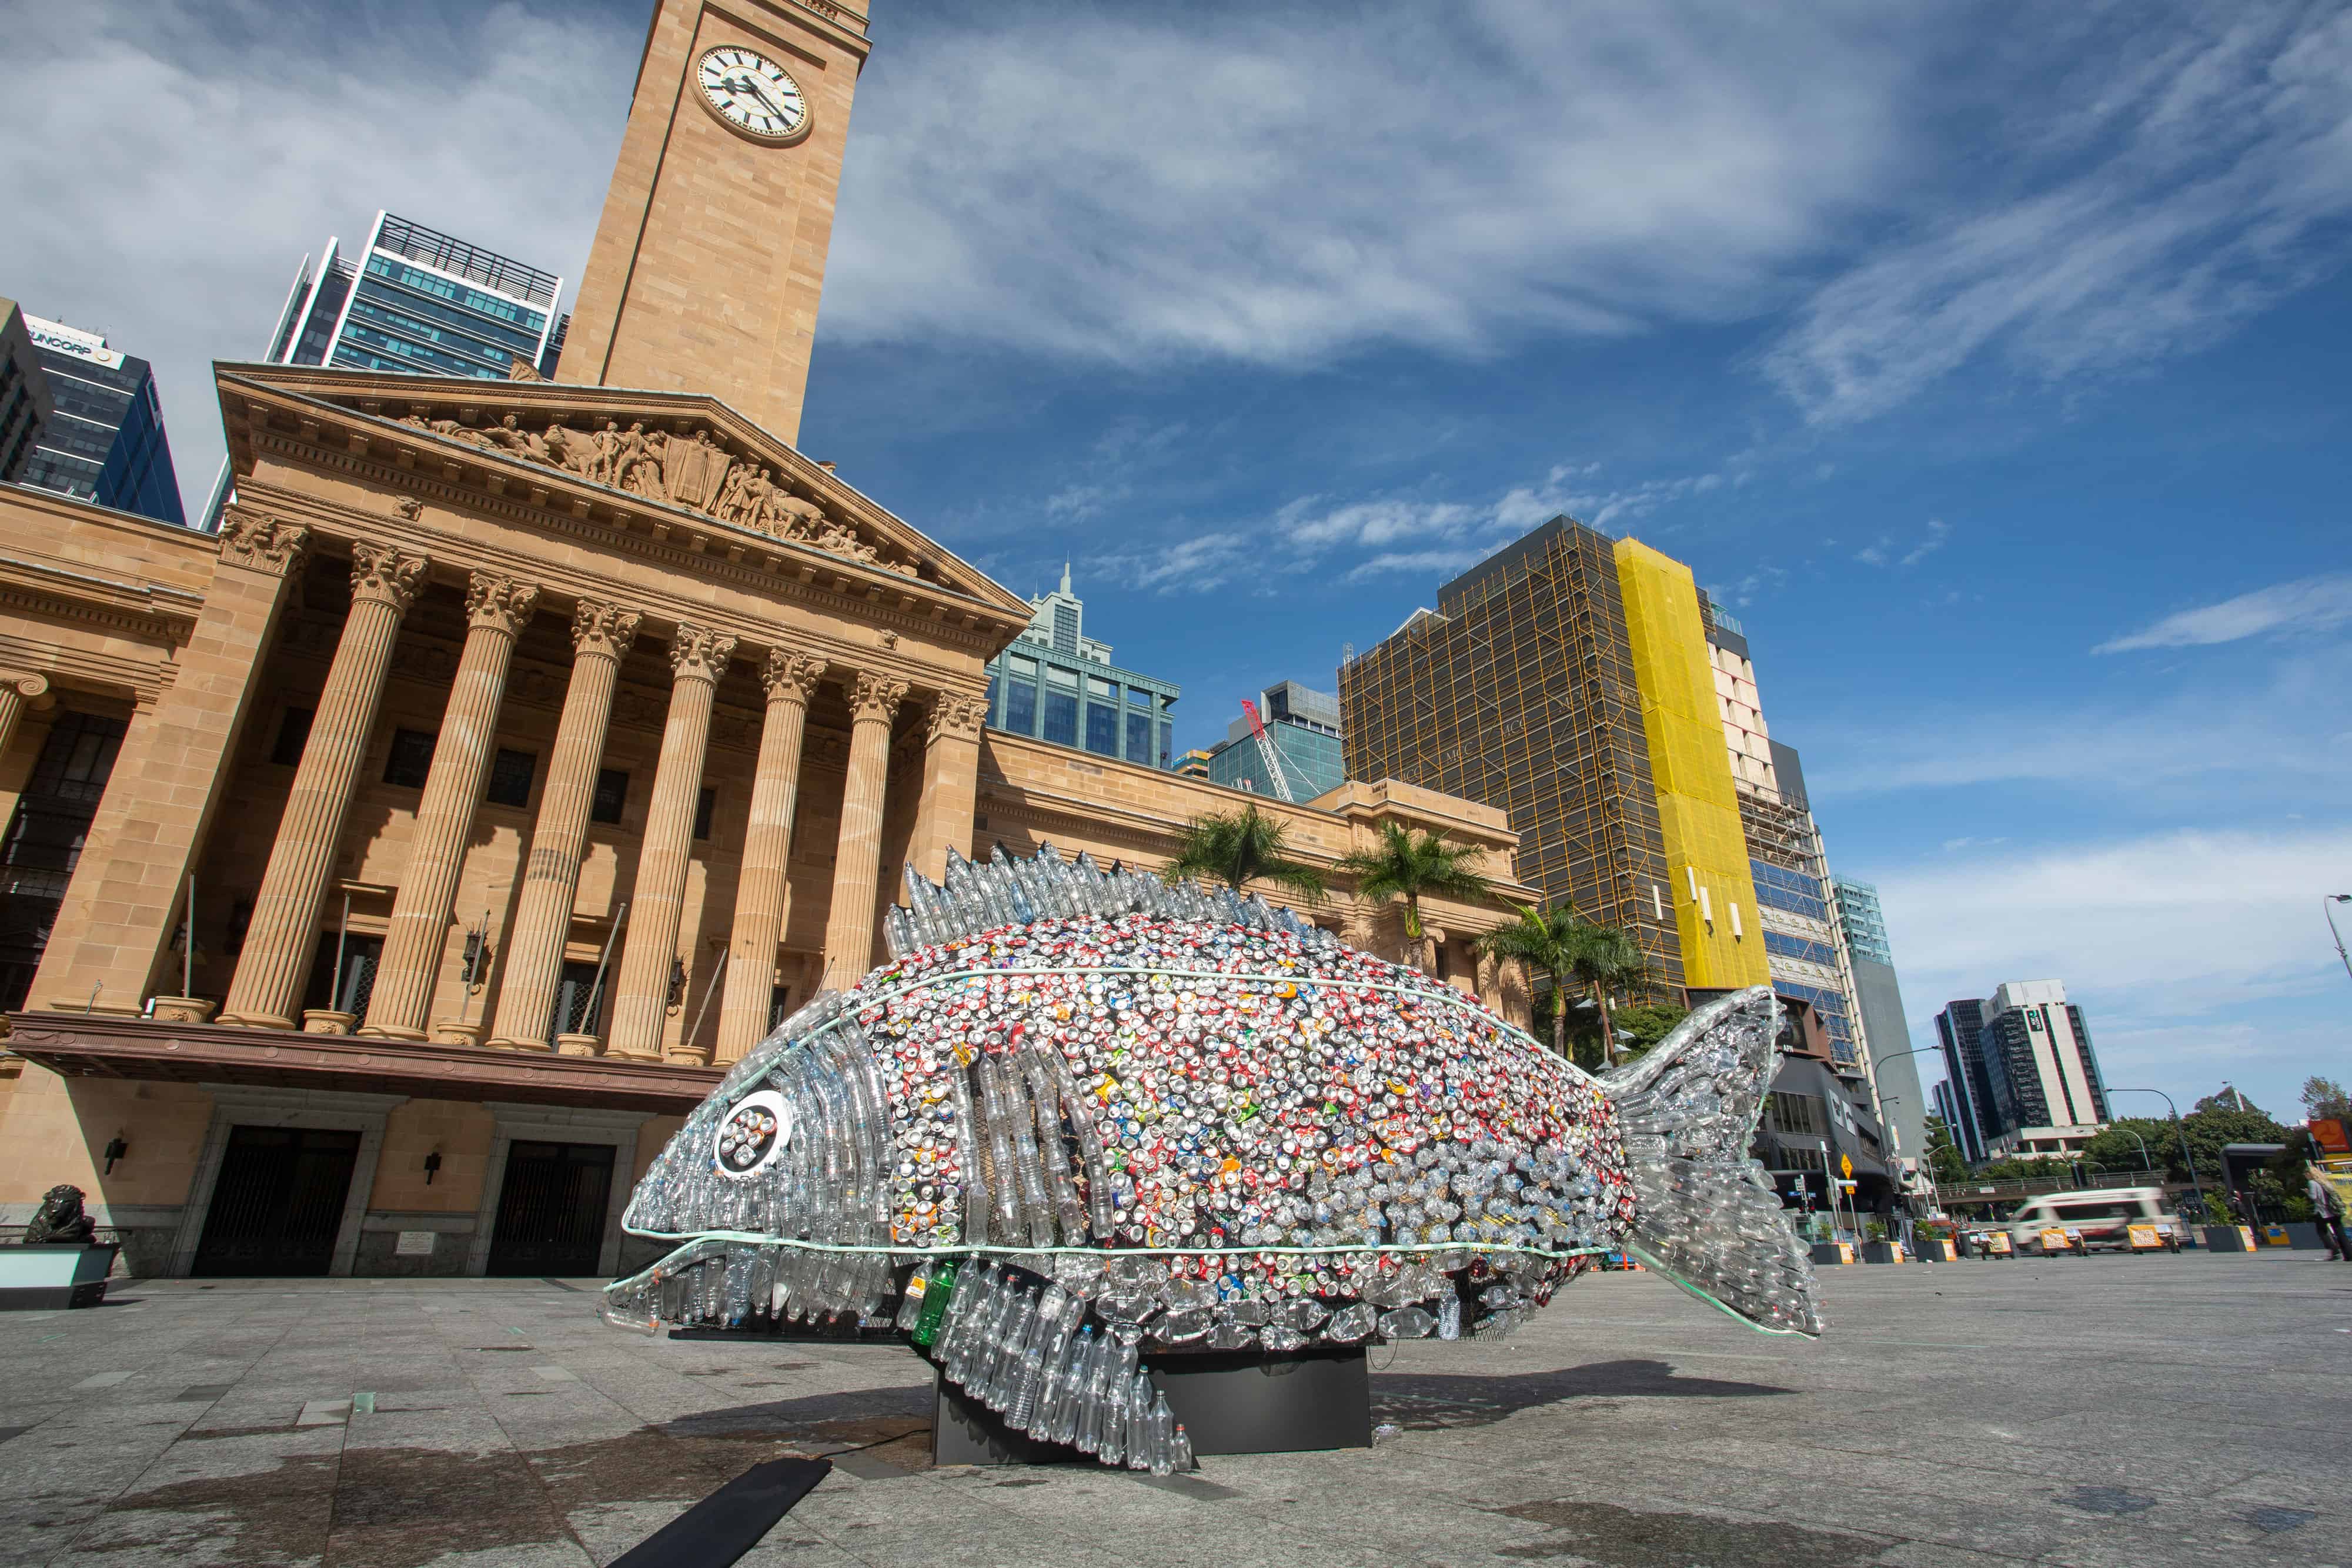
[[[1832,277],[1766,355],[1813,423],[1884,414],[1978,355],[2044,378],[2145,364],[2340,266],[2352,14],[2117,16],[2129,33],[2063,54],[2086,61],[2074,80],[2018,101],[2013,197],[1962,202]],[[2037,127],[2042,99],[2067,108]]]

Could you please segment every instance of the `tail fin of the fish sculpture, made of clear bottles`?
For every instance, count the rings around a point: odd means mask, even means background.
[[[1778,1030],[1771,987],[1752,985],[1696,1009],[1602,1086],[1625,1131],[1635,1253],[1755,1328],[1818,1335],[1813,1265],[1748,1154]]]

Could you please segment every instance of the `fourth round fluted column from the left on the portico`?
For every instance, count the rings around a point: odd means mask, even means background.
[[[670,637],[670,719],[661,726],[661,766],[644,809],[637,886],[628,898],[628,938],[612,1004],[612,1056],[661,1056],[661,1018],[670,1004],[670,964],[687,900],[687,856],[694,849],[694,802],[703,788],[710,745],[710,698],[717,693],[734,637],[680,625]]]

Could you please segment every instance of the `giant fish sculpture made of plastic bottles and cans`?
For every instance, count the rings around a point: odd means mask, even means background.
[[[680,1246],[607,1321],[896,1324],[1016,1429],[1134,1465],[1174,1439],[1143,1352],[1508,1333],[1609,1253],[1823,1328],[1748,1157],[1769,987],[1590,1077],[1254,896],[1051,846],[908,867],[884,926],[652,1164],[626,1227]]]

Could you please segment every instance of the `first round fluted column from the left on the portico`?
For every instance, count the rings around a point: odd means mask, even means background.
[[[228,983],[228,1006],[221,1023],[245,1023],[263,1030],[294,1027],[294,1004],[310,969],[310,931],[318,924],[318,900],[334,870],[334,844],[343,835],[343,811],[350,785],[376,726],[376,701],[383,696],[383,672],[393,661],[400,616],[416,599],[426,576],[426,557],[390,545],[350,548],[350,614],[343,639],[334,644],[327,689],[318,693],[310,738],[294,769],[278,839],[270,844],[254,917],[245,929],[245,954]]]

